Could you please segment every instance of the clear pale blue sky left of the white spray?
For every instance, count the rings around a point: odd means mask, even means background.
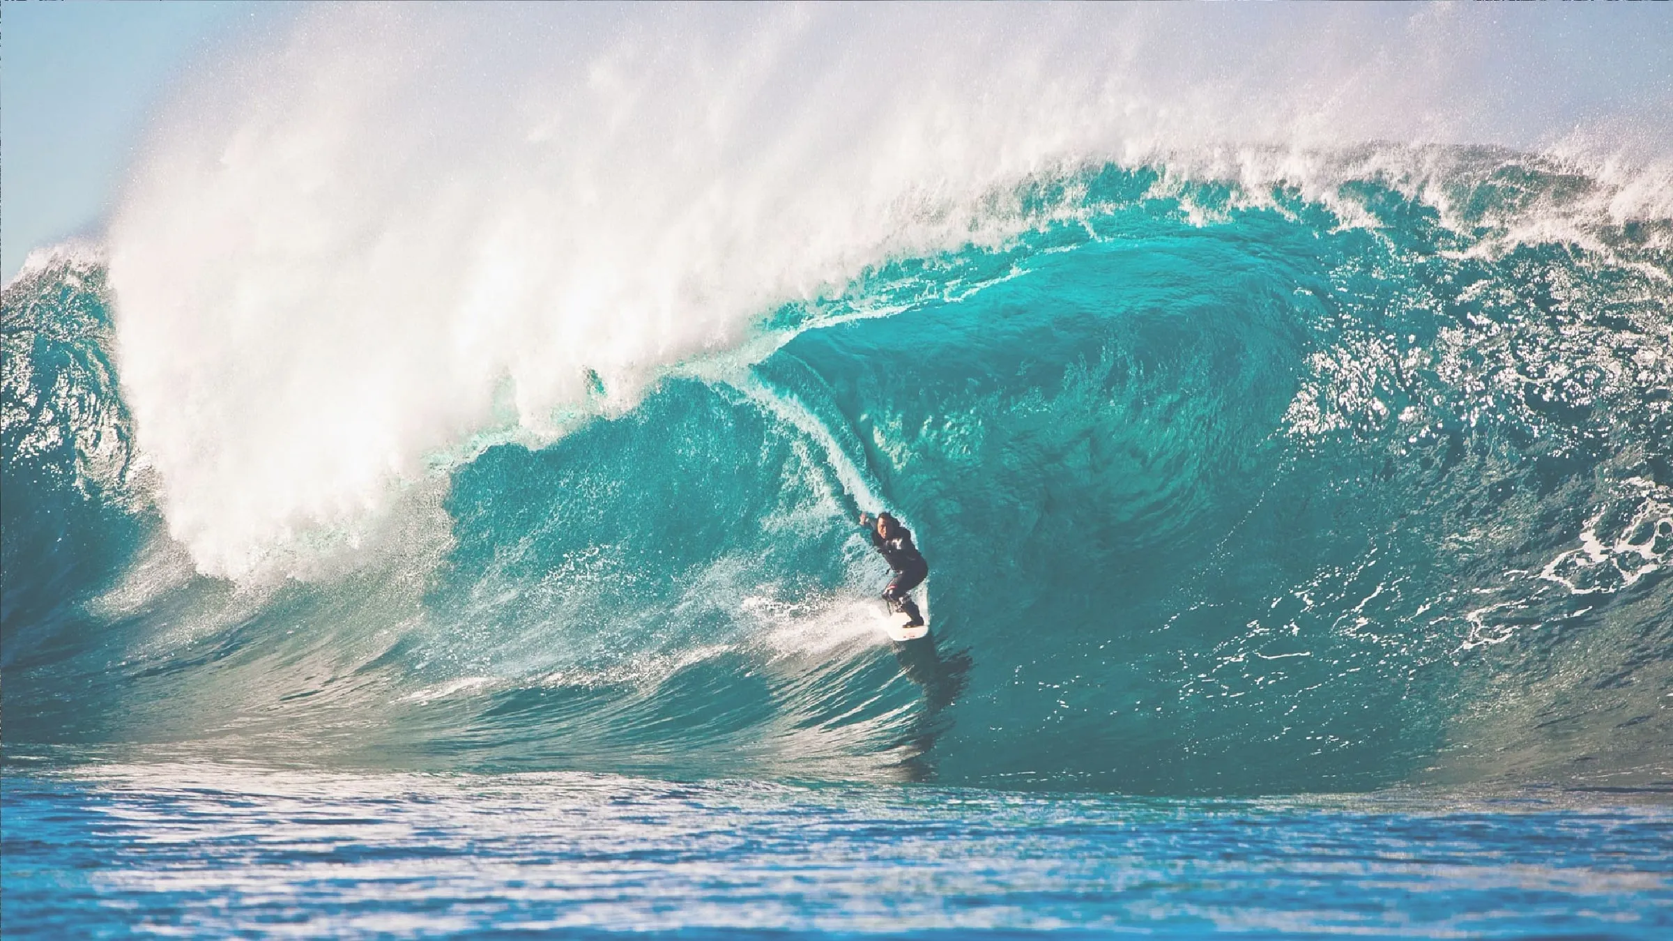
[[[28,249],[97,234],[152,102],[259,3],[0,3],[0,276]]]

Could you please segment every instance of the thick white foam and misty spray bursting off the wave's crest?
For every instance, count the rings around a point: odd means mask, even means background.
[[[109,233],[120,382],[196,566],[289,569],[360,539],[437,454],[627,409],[778,303],[1032,224],[1007,198],[1031,176],[1161,161],[1330,199],[1348,144],[1556,141],[1564,114],[1481,80],[1492,60],[1568,87],[1504,42],[1517,23],[320,7],[157,121]],[[1665,171],[1618,166],[1609,211],[1665,209]],[[1350,166],[1385,169],[1425,179],[1400,147]]]

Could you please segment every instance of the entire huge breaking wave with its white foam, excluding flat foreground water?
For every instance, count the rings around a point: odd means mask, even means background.
[[[984,99],[957,64],[994,23],[913,72],[805,10],[684,57],[678,15],[607,13],[574,75],[490,69],[570,97],[443,134],[425,95],[473,85],[412,40],[435,15],[304,17],[241,60],[269,84],[164,121],[109,256],[5,288],[8,753],[1665,777],[1655,166],[1139,146],[1103,117],[1144,100],[1128,72],[1042,84],[1051,30],[980,60],[1014,85]],[[852,121],[781,117],[768,79],[835,27],[910,104],[842,54],[781,94]],[[932,563],[934,645],[873,626],[880,507]]]

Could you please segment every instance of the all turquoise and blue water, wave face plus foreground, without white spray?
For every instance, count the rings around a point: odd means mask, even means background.
[[[169,537],[104,263],[25,271],[7,933],[1665,933],[1668,223],[1452,159],[1042,184],[266,581]]]

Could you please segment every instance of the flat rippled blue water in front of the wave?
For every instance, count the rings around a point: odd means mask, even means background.
[[[8,938],[1673,931],[1673,809],[99,765],[5,779]]]

